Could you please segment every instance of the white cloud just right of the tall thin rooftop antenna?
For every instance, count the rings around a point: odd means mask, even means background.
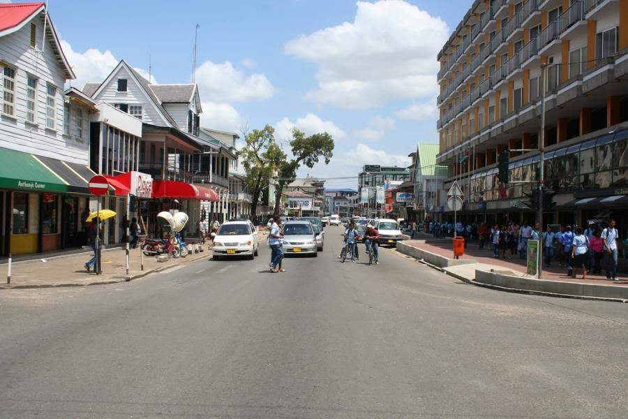
[[[229,61],[223,64],[205,61],[196,70],[196,83],[200,96],[214,102],[265,101],[275,93],[266,76],[246,75]]]

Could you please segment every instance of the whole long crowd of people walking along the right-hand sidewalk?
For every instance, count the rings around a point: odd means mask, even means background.
[[[580,270],[582,278],[586,279],[588,272],[602,274],[604,270],[606,279],[618,281],[618,248],[621,242],[613,219],[604,223],[589,221],[586,228],[561,226],[558,231],[550,225],[541,231],[539,223],[532,225],[527,221],[521,225],[505,221],[491,226],[488,223],[426,220],[424,228],[434,237],[464,237],[465,245],[468,241],[477,241],[479,249],[489,248],[493,257],[502,259],[527,258],[528,241],[541,239],[546,267],[558,261],[559,267],[567,269],[569,277],[575,278]]]

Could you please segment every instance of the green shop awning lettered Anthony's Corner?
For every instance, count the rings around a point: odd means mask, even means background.
[[[0,188],[66,192],[68,186],[31,154],[0,148]]]

